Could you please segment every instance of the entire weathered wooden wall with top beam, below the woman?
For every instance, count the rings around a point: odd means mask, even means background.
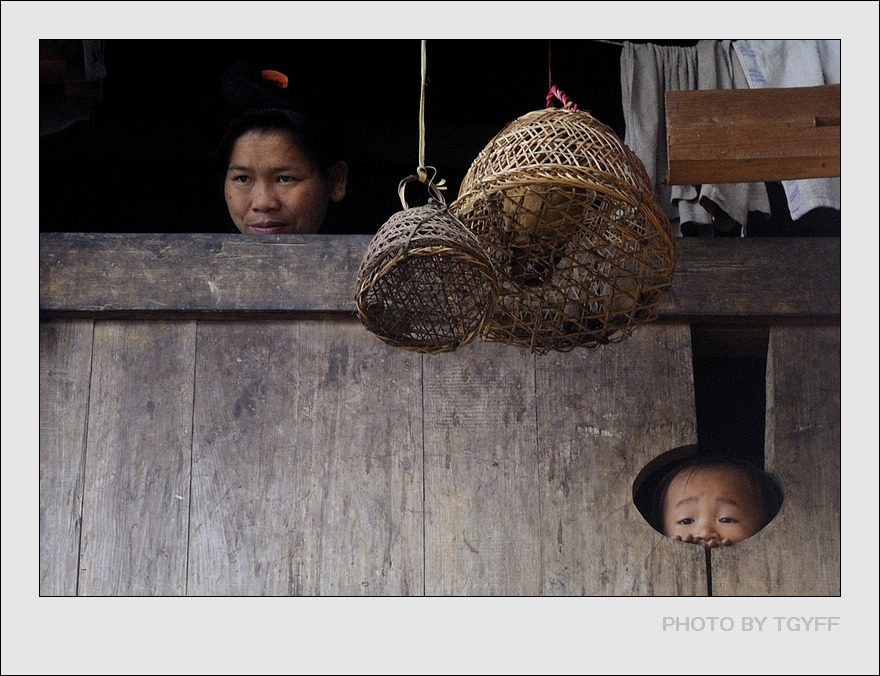
[[[682,241],[659,321],[547,356],[385,345],[368,241],[40,236],[41,595],[839,594],[839,240]],[[632,503],[696,442],[694,321],[771,327],[787,489],[711,590]]]

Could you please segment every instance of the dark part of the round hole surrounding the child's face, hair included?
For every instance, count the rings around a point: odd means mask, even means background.
[[[701,453],[695,444],[673,448],[645,465],[633,482],[633,503],[654,530],[665,534],[662,505],[672,478],[685,467],[699,470],[717,468],[719,465],[739,468],[753,482],[762,504],[762,516],[760,527],[752,535],[760,532],[776,517],[782,506],[783,493],[779,480],[742,458],[719,453]]]

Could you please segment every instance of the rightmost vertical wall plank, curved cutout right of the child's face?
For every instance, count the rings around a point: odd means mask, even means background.
[[[716,596],[840,594],[840,328],[770,334],[767,469],[782,483],[776,519],[712,551]]]

